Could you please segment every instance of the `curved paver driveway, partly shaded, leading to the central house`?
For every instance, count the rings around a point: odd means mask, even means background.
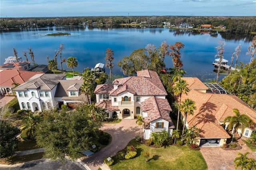
[[[140,134],[140,127],[136,124],[136,119],[122,119],[120,123],[104,124],[101,130],[111,134],[112,142],[91,156],[82,158],[81,161],[91,170],[98,170],[104,163],[104,158],[116,155],[130,140],[135,138],[135,134]]]

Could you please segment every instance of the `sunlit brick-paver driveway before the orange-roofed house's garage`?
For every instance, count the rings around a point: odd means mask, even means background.
[[[220,147],[201,147],[200,152],[204,156],[208,170],[234,170],[234,159],[237,153],[250,152],[247,156],[256,159],[256,152],[252,152],[246,145],[240,150],[223,150]]]

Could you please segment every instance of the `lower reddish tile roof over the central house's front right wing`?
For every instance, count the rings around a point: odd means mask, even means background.
[[[169,122],[169,128],[174,128],[174,124],[169,115],[172,109],[167,99],[152,96],[141,103],[141,110],[147,111],[148,116],[145,118],[146,123],[162,118]]]

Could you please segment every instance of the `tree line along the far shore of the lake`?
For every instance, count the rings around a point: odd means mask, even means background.
[[[192,29],[202,24],[212,28],[224,26],[229,32],[256,34],[255,16],[79,16],[79,17],[33,17],[1,18],[1,30],[22,27],[76,26],[76,25],[151,25],[177,28],[182,23],[189,23]],[[220,30],[220,29],[217,29]]]

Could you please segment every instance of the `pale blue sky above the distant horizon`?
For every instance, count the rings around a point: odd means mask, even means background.
[[[0,17],[256,16],[256,0],[0,0]]]

